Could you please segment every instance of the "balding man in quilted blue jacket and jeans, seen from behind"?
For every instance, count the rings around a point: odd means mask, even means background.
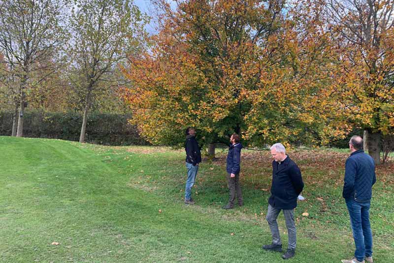
[[[362,150],[360,136],[353,136],[349,142],[350,156],[345,164],[345,179],[342,196],[350,215],[353,237],[356,244],[354,258],[343,263],[363,263],[372,260],[372,231],[369,224],[369,207],[372,186],[376,182],[375,162]]]

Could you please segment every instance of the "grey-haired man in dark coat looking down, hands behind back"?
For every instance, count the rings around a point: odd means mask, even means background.
[[[286,155],[286,149],[281,143],[271,146],[272,158],[272,186],[271,196],[268,199],[268,212],[266,220],[271,229],[272,244],[264,245],[264,250],[282,252],[278,223],[276,219],[281,210],[285,216],[289,235],[288,248],[282,258],[287,260],[296,255],[296,224],[294,222],[294,209],[297,206],[297,197],[304,188],[301,171],[296,163]]]

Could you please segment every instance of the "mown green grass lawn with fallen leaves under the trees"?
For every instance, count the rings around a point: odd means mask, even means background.
[[[228,199],[225,154],[200,165],[197,204],[186,206],[181,150],[0,137],[0,262],[283,262],[261,249],[271,242],[268,152],[243,152],[245,205],[230,211],[221,209]],[[351,258],[341,197],[347,153],[289,155],[303,173],[306,201],[296,208],[297,254],[288,262]],[[394,262],[393,168],[391,161],[377,169],[373,189],[378,263]],[[286,248],[282,214],[279,223]]]

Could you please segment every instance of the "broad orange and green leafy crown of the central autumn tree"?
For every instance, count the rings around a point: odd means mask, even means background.
[[[152,143],[181,143],[189,125],[204,143],[237,132],[256,146],[340,133],[313,109],[329,76],[319,63],[330,57],[325,33],[307,26],[313,16],[297,27],[281,0],[155,2],[163,17],[152,50],[124,71],[131,122]]]

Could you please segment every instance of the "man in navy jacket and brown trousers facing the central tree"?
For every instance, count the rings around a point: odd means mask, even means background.
[[[230,189],[230,197],[229,203],[223,207],[223,209],[232,209],[234,208],[234,201],[235,195],[238,200],[238,205],[243,205],[242,200],[242,190],[241,186],[239,185],[239,172],[241,170],[240,163],[241,163],[241,149],[242,145],[239,143],[240,137],[238,134],[234,133],[230,137],[230,149],[229,153],[227,154],[227,181]]]

